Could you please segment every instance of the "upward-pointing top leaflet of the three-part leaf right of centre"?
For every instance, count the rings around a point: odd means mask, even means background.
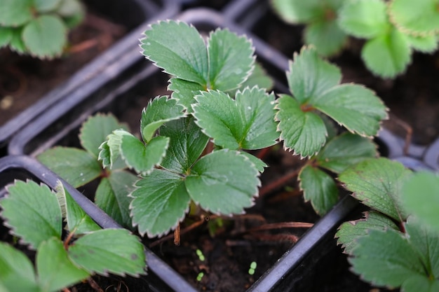
[[[287,78],[292,95],[302,105],[312,104],[311,99],[339,84],[342,74],[337,66],[320,59],[315,49],[304,47],[290,62]]]

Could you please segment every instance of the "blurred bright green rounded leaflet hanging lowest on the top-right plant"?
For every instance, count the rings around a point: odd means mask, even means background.
[[[402,32],[391,29],[387,34],[367,41],[361,50],[367,69],[383,78],[403,73],[410,63],[410,46]]]

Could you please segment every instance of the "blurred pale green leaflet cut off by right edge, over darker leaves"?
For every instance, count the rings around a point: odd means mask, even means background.
[[[410,214],[439,230],[439,176],[418,172],[405,181],[401,200]]]

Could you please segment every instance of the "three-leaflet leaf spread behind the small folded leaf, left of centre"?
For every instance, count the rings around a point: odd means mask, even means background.
[[[57,146],[36,158],[48,165],[75,188],[100,179],[95,193],[95,204],[125,228],[132,228],[127,193],[133,190],[137,176],[130,173],[123,161],[115,161],[112,170],[104,170],[97,160],[99,146],[114,130],[128,130],[112,115],[97,114],[83,123],[79,141],[83,149]]]

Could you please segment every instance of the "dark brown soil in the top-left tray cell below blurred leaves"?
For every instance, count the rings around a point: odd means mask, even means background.
[[[39,60],[0,49],[0,126],[72,77],[125,33],[123,26],[88,11],[83,23],[70,32],[69,46],[60,58]]]

